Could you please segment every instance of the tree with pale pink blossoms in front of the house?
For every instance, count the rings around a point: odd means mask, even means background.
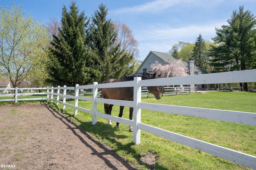
[[[155,64],[150,65],[152,71],[151,73],[155,73],[157,75],[161,74],[161,77],[176,77],[176,76],[188,76],[188,68],[184,66],[182,60],[174,61],[173,63],[166,63],[162,65],[156,61]]]

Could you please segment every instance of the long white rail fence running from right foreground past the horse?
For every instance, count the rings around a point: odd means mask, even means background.
[[[175,113],[180,115],[188,115],[193,117],[202,117],[206,119],[214,119],[219,121],[227,121],[232,123],[241,123],[246,125],[256,126],[256,113],[240,112],[240,111],[228,111],[228,110],[218,110],[218,109],[204,109],[197,107],[184,107],[184,106],[172,106],[172,105],[162,105],[162,104],[151,104],[141,102],[141,87],[145,86],[168,86],[169,84],[180,85],[180,84],[217,84],[217,83],[236,83],[236,82],[256,82],[256,70],[244,70],[244,71],[234,71],[234,72],[222,72],[222,73],[212,73],[212,74],[200,74],[193,76],[182,76],[182,77],[172,77],[172,78],[160,78],[160,79],[150,79],[141,80],[141,77],[134,78],[134,81],[126,82],[116,82],[116,83],[104,83],[98,84],[94,82],[91,85],[79,86],[76,84],[75,87],[52,87],[50,88],[50,98],[51,101],[56,101],[57,104],[62,103],[63,109],[65,106],[74,108],[74,115],[77,115],[78,110],[84,111],[92,115],[92,125],[97,123],[97,117],[103,117],[123,123],[126,125],[133,126],[133,142],[135,144],[140,143],[140,131],[146,131],[164,137],[171,141],[175,141],[182,145],[201,150],[203,152],[224,158],[231,162],[235,162],[242,166],[246,166],[252,169],[256,169],[256,156],[238,152],[236,150],[220,147],[211,143],[193,139],[191,137],[186,137],[177,133],[159,129],[150,125],[141,123],[141,109],[147,109],[152,111],[161,111],[165,113]],[[110,100],[97,98],[98,88],[116,88],[116,87],[134,87],[134,101],[124,101],[124,100]],[[63,90],[63,94],[60,94],[60,90]],[[82,97],[79,96],[79,89],[93,89],[92,97]],[[57,90],[57,93],[54,93]],[[75,95],[66,95],[66,90],[74,90]],[[53,96],[57,96],[54,99]],[[62,97],[63,100],[60,101],[59,98]],[[74,105],[66,103],[66,98],[72,98],[75,100]],[[78,107],[79,100],[91,101],[93,109],[86,109]],[[134,107],[133,120],[124,119],[120,117],[115,117],[112,115],[107,115],[104,113],[97,112],[97,103],[106,103],[121,105],[127,107]]]

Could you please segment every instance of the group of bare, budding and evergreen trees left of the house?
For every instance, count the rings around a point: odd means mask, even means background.
[[[61,21],[39,24],[22,6],[0,7],[0,78],[13,86],[91,84],[131,74],[138,66],[138,42],[120,21],[107,18],[100,4],[92,16],[76,2],[62,8]]]

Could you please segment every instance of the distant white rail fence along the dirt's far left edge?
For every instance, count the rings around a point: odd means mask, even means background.
[[[44,94],[47,95],[47,92],[41,92],[41,93],[24,93],[25,90],[46,90],[48,88],[0,88],[0,90],[5,90],[6,92],[12,92],[14,91],[14,93],[6,93],[6,94],[0,94],[1,96],[14,96],[12,99],[0,99],[0,102],[5,102],[5,101],[15,101],[15,103],[17,103],[17,101],[21,101],[21,100],[47,100],[47,97],[44,98],[18,98],[18,96],[32,96],[32,95],[37,95],[37,94]],[[22,90],[22,93],[20,93],[20,90]]]

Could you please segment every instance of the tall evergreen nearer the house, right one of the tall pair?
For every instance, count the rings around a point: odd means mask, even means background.
[[[92,24],[87,34],[90,37],[90,48],[98,56],[101,76],[99,82],[108,78],[121,78],[132,73],[130,62],[133,55],[120,50],[116,45],[117,33],[114,24],[106,16],[108,10],[104,4],[99,5],[99,10],[92,16]]]

